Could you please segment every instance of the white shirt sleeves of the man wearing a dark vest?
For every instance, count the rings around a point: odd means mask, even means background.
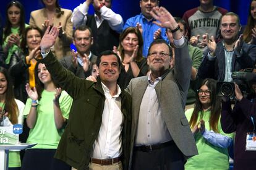
[[[85,23],[87,22],[88,9],[89,6],[87,6],[85,2],[83,2],[83,4],[80,4],[80,6],[74,9],[71,18],[74,27],[78,27],[82,24],[85,25]],[[106,6],[101,7],[99,12],[101,15],[100,18],[95,14],[97,28],[100,27],[103,20],[106,20],[108,22],[109,27],[111,27],[116,32],[122,32],[124,21],[122,20],[121,15],[114,13],[112,9],[109,9]]]

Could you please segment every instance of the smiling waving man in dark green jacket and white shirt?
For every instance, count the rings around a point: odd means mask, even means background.
[[[127,169],[131,98],[117,85],[121,69],[119,56],[104,51],[96,61],[98,81],[80,79],[64,69],[49,51],[58,32],[56,27],[47,28],[40,43],[43,59],[38,59],[73,98],[69,122],[55,157],[76,169]]]

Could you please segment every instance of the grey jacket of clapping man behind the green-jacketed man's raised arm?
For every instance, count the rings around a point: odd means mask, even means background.
[[[91,64],[92,62],[96,62],[96,59],[97,59],[97,56],[92,54],[92,56],[90,57]],[[61,62],[61,65],[65,67],[67,70],[70,70],[77,77],[80,77],[82,79],[85,79],[92,74],[92,69],[90,69],[92,68],[91,66],[89,66],[87,72],[84,72],[83,67],[80,64],[77,64],[77,68],[75,68],[74,64],[72,63],[72,56],[63,57],[62,59],[59,60],[59,62]]]

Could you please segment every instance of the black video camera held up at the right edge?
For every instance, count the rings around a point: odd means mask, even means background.
[[[248,72],[250,71],[250,72]],[[218,82],[217,83],[217,95],[234,98],[236,83],[244,95],[251,93],[252,83],[256,82],[256,74],[251,72],[252,69],[247,69],[243,72],[233,72],[231,77],[233,82]]]

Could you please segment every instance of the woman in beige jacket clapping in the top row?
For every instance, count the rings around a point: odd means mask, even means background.
[[[32,11],[29,24],[45,31],[49,25],[59,28],[59,37],[53,48],[54,54],[58,59],[70,54],[70,44],[72,43],[73,25],[71,22],[72,11],[63,9],[58,0],[41,0],[45,6],[43,9]]]

